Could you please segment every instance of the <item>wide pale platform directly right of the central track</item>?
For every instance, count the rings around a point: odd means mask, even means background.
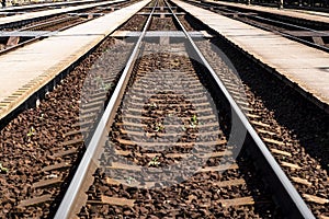
[[[224,15],[173,0],[234,45],[329,111],[329,54]]]

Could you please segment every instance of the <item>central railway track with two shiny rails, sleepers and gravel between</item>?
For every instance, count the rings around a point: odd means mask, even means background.
[[[314,217],[243,116],[240,107],[248,111],[248,103],[237,100],[243,97],[239,90],[236,91],[239,95],[230,96],[170,5],[157,3],[88,141],[87,151],[55,218],[77,214],[82,218],[106,215],[238,217],[248,211],[252,217],[272,217],[282,214],[265,195],[268,191],[262,177],[250,171],[252,164],[246,157],[240,157],[237,162],[231,160],[236,148],[228,143],[222,127],[235,128],[236,124],[219,126],[218,119],[225,118],[217,118],[218,106],[212,101],[214,94],[205,95],[211,88],[202,89],[205,83],[209,87],[211,77],[201,76],[201,69],[215,78],[215,84],[234,108],[231,117],[238,115],[238,124],[243,124],[248,130],[254,151],[262,154],[256,162],[266,163],[262,171],[271,172],[272,180],[266,186],[285,206],[281,206],[283,214]],[[162,25],[154,19],[157,9],[173,13],[175,27],[169,21],[169,25]],[[168,37],[158,33],[160,45],[149,43],[146,36],[152,25],[160,25],[166,31],[179,27],[189,41],[168,46]],[[196,55],[196,60],[204,67],[186,59],[190,53]],[[172,138],[178,139],[171,141]],[[224,170],[227,172],[222,173]],[[253,182],[250,178],[246,182],[248,174],[252,175]]]

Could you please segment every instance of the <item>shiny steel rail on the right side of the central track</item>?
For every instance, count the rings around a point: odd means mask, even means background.
[[[193,39],[190,36],[190,34],[186,32],[186,30],[184,28],[184,26],[182,25],[182,23],[179,21],[178,16],[171,10],[171,8],[170,8],[170,5],[168,3],[167,3],[167,5],[169,7],[169,10],[173,14],[173,18],[177,20],[177,22],[179,23],[180,27],[184,32],[184,34],[185,34],[186,38],[189,39],[189,42],[191,43],[193,49],[196,51],[196,55],[202,60],[203,65],[208,69],[208,71],[211,72],[213,79],[216,81],[216,83],[218,84],[219,89],[222,90],[222,92],[226,96],[227,101],[229,102],[229,104],[231,106],[231,110],[239,117],[240,122],[246,127],[247,131],[249,132],[249,135],[251,136],[251,138],[253,139],[253,141],[256,142],[256,145],[258,146],[258,148],[261,151],[262,155],[268,161],[268,163],[270,164],[270,166],[272,168],[272,170],[276,174],[276,177],[280,180],[280,182],[282,183],[283,187],[286,189],[287,194],[290,195],[290,197],[292,198],[292,200],[296,205],[296,207],[297,207],[300,216],[304,217],[304,218],[307,218],[307,219],[315,218],[315,216],[313,215],[313,212],[310,211],[310,209],[307,207],[307,205],[305,204],[305,201],[303,200],[303,198],[300,197],[300,195],[298,194],[298,192],[296,191],[296,188],[294,187],[294,185],[291,183],[291,181],[288,180],[288,177],[286,176],[286,174],[281,169],[280,164],[275,161],[275,159],[273,158],[273,155],[271,154],[271,152],[266,148],[265,143],[259,137],[259,135],[257,134],[257,131],[254,130],[254,128],[251,126],[251,124],[249,123],[249,120],[246,117],[246,115],[242,113],[242,111],[240,110],[240,107],[238,106],[238,104],[235,102],[235,100],[232,99],[232,96],[230,95],[230,93],[228,92],[228,90],[226,89],[226,87],[224,85],[224,83],[222,82],[222,80],[219,79],[219,77],[216,74],[216,72],[214,71],[214,69],[211,67],[211,65],[205,59],[205,57],[203,56],[203,54],[201,53],[201,50],[198,49],[198,47],[193,42]]]

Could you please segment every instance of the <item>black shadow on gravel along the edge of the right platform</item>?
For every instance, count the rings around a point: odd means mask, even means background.
[[[291,131],[305,151],[329,170],[329,115],[286,85],[274,74],[229,46],[224,39],[213,39],[235,65],[239,76],[265,107],[274,113],[276,122]]]

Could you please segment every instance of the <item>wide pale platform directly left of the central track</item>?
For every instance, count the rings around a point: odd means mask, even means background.
[[[0,56],[0,119],[149,2],[139,1]]]

